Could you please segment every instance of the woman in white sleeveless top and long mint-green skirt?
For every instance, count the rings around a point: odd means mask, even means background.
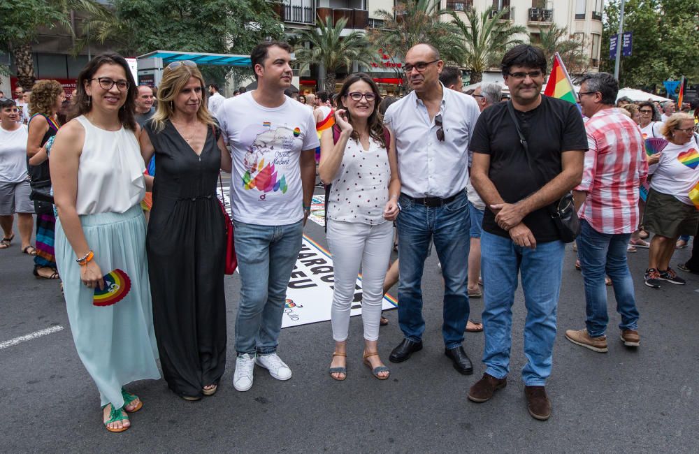
[[[136,84],[118,54],[78,75],[72,118],[51,148],[56,259],[78,356],[99,390],[102,422],[123,432],[143,407],[127,383],[159,379],[145,219],[145,166],[134,120]]]

